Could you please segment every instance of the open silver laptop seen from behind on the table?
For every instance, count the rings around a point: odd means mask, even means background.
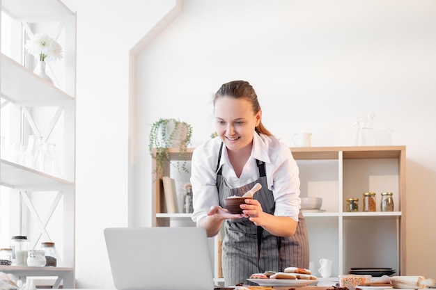
[[[109,227],[104,239],[118,290],[215,288],[201,227]]]

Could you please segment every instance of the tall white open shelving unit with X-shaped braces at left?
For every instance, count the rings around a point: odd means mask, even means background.
[[[0,0],[0,134],[6,140],[0,167],[0,247],[11,236],[28,236],[30,247],[54,241],[57,267],[0,266],[0,272],[57,277],[54,287],[75,287],[75,63],[76,15],[59,0]],[[54,84],[33,73],[24,51],[29,33],[48,34],[63,48],[53,63]],[[12,145],[23,151],[27,136],[56,145],[59,174],[12,159]],[[17,153],[17,152],[15,152]]]

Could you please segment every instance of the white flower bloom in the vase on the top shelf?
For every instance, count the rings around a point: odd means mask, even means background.
[[[57,61],[62,58],[61,45],[47,34],[39,35],[36,33],[33,35],[26,43],[26,49],[39,61]]]

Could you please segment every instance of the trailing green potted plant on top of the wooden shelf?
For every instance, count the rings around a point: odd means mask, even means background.
[[[148,144],[148,152],[156,161],[156,167],[153,172],[156,176],[162,175],[164,163],[170,161],[169,148],[178,148],[181,156],[186,152],[187,146],[191,143],[192,126],[186,122],[181,122],[176,119],[161,118],[151,125],[150,143]],[[155,150],[155,152],[153,152]],[[189,172],[186,167],[186,161],[177,162],[177,168]]]

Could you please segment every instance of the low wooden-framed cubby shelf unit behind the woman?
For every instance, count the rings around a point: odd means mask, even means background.
[[[332,277],[350,268],[393,268],[405,273],[405,146],[293,147],[300,170],[301,196],[322,198],[322,211],[304,212],[309,232],[310,261],[333,261]],[[171,160],[190,160],[170,151]],[[154,165],[154,164],[153,164]],[[164,174],[169,174],[164,168]],[[153,177],[154,178],[154,177]],[[169,226],[189,214],[162,213],[162,181],[153,192],[155,225]],[[394,193],[394,211],[380,211],[382,192]],[[362,194],[375,192],[376,211],[362,211]],[[194,193],[195,194],[195,193]],[[348,198],[359,198],[359,211],[345,209]],[[215,239],[215,276],[219,277],[219,241]],[[320,277],[319,273],[314,273]],[[218,279],[217,279],[218,280]]]

